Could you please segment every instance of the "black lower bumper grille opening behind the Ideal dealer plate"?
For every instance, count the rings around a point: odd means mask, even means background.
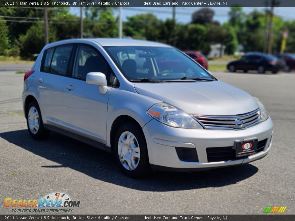
[[[257,143],[257,153],[264,150],[267,139],[258,141]],[[207,160],[210,162],[219,162],[219,161],[230,161],[230,160],[240,160],[245,157],[236,157],[236,150],[233,149],[233,146],[230,147],[207,147]],[[246,156],[247,157],[247,156]]]

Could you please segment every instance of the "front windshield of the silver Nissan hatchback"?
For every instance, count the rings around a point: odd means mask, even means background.
[[[128,80],[214,79],[189,57],[174,48],[104,47]]]

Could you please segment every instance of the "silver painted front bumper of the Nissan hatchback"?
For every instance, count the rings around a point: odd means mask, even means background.
[[[266,121],[244,130],[183,129],[166,126],[155,119],[143,127],[152,168],[163,170],[202,170],[216,167],[241,165],[265,157],[272,144],[273,122]],[[229,147],[234,141],[257,138],[258,142],[267,139],[259,153],[229,161],[208,162],[206,148]],[[175,147],[195,148],[198,162],[179,159]]]

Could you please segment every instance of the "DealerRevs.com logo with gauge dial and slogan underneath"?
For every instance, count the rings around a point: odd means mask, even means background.
[[[53,192],[38,200],[14,200],[6,197],[5,207],[12,207],[12,212],[72,212],[80,206],[80,201],[72,200],[67,193]]]

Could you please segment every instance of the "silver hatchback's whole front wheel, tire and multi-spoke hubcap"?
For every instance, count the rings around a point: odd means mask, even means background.
[[[148,149],[140,127],[126,123],[119,128],[114,154],[120,168],[127,176],[141,178],[149,174]]]

